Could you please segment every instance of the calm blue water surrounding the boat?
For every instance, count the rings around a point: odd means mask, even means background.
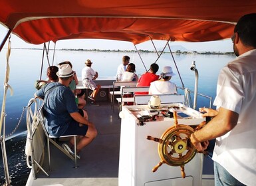
[[[0,53],[0,84],[4,81],[6,59],[5,59],[6,49],[3,49]],[[11,68],[9,84],[14,90],[13,96],[10,96],[10,92],[7,92],[7,106],[6,106],[6,124],[7,130],[6,135],[9,134],[17,125],[19,118],[21,117],[21,112],[24,106],[27,106],[30,98],[33,98],[35,93],[35,80],[40,78],[40,69],[42,61],[42,50],[28,50],[28,49],[13,49],[11,50],[11,57],[9,59],[9,64]],[[50,51],[49,58],[51,65],[56,65],[64,60],[70,60],[73,64],[73,69],[76,70],[76,74],[81,76],[81,70],[84,67],[84,61],[86,59],[92,60],[92,68],[96,70],[100,78],[113,77],[116,74],[117,66],[122,62],[122,56],[130,56],[130,62],[136,64],[136,73],[143,74],[158,58],[155,53],[142,53],[141,57],[144,61],[144,65],[140,60],[140,56],[136,53],[124,53],[124,52],[78,52],[78,51],[57,51],[55,53],[55,62],[53,63],[52,52]],[[174,59],[179,68],[182,81],[186,88],[194,90],[195,84],[195,73],[190,70],[190,65],[192,61],[195,60],[196,68],[199,72],[199,82],[198,82],[198,93],[206,94],[215,98],[215,88],[217,84],[217,75],[219,70],[227,64],[230,60],[235,58],[235,56],[229,55],[193,55],[193,54],[174,54]],[[176,76],[172,77],[172,82],[175,82],[177,86],[182,86],[180,77],[178,76],[178,71],[174,66],[171,54],[162,54],[158,60],[160,66],[160,71],[163,66],[172,66]],[[46,78],[47,60],[45,58],[45,68],[43,69],[43,79]],[[158,74],[160,74],[160,71]],[[0,101],[3,99],[3,86],[0,86]],[[208,106],[208,102],[197,98],[197,106]],[[23,118],[21,126],[18,128],[17,132],[23,132],[27,130],[25,124],[25,118]],[[10,175],[12,175],[13,185],[23,185],[25,181],[20,181],[19,177],[25,177],[27,179],[28,169],[25,163],[25,138],[20,138],[21,140],[8,141],[8,159]],[[17,147],[18,146],[18,147]],[[19,159],[17,158],[18,155]],[[2,159],[0,158],[0,166],[2,166]],[[16,178],[14,178],[16,175]],[[0,169],[1,182],[3,180],[3,169]],[[17,181],[18,180],[18,181]]]

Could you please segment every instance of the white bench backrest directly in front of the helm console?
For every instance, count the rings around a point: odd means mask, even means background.
[[[148,104],[152,95],[134,95],[134,104]],[[161,104],[184,103],[184,95],[180,94],[159,94]]]

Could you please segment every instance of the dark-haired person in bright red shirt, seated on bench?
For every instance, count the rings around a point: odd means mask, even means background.
[[[158,72],[159,66],[156,63],[152,63],[150,65],[150,70],[142,76],[140,76],[138,80],[137,86],[150,86],[151,82],[154,82],[159,79],[159,76],[156,75],[156,72]],[[135,92],[135,94],[148,94],[148,92]]]

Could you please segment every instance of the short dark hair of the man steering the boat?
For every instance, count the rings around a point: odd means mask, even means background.
[[[245,46],[256,47],[256,13],[243,15],[237,21],[234,33],[238,33]]]

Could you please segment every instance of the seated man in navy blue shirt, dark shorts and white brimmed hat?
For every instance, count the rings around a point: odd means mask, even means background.
[[[74,79],[74,72],[69,64],[59,66],[57,72],[59,82],[51,82],[35,92],[36,98],[44,100],[46,128],[52,136],[78,135],[77,152],[88,145],[97,135],[96,128],[88,121],[86,112],[78,109],[74,101],[74,94],[68,88]],[[63,147],[71,155],[74,155],[74,138],[70,144]]]

